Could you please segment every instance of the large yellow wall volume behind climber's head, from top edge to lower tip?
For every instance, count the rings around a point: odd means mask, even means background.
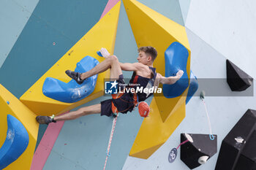
[[[187,75],[190,77],[191,52],[185,27],[135,0],[124,0],[124,7],[138,47],[152,46],[157,49],[158,55],[154,61],[157,72],[165,75],[165,50],[173,42],[180,42],[189,52]],[[161,144],[165,143],[185,117],[187,91],[188,88],[181,96],[176,98],[154,97],[154,102],[151,103],[154,112],[151,112],[151,114],[157,114],[157,120],[150,121],[148,120],[149,117],[144,120],[130,155],[138,158],[148,158],[150,152],[152,154]],[[179,114],[177,114],[178,112]],[[175,121],[168,124],[170,119]],[[148,135],[151,134],[151,131],[157,133]],[[152,136],[152,138],[148,139],[148,136]]]

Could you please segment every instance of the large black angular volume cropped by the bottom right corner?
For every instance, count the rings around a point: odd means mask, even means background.
[[[256,169],[256,110],[248,109],[222,141],[215,170]]]

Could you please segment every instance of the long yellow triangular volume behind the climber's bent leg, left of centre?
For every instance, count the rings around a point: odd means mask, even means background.
[[[71,79],[65,74],[67,69],[75,70],[78,63],[86,55],[96,58],[99,62],[104,58],[97,55],[101,47],[105,47],[113,54],[116,42],[116,30],[118,26],[118,16],[121,1],[119,1],[91,30],[83,36],[70,50],[64,54],[34,85],[20,97],[29,109],[37,115],[58,115],[70,109],[74,109],[81,104],[98,98],[103,95],[104,78],[109,77],[109,72],[98,74],[97,85],[90,96],[76,103],[64,103],[46,97],[42,93],[42,85],[46,77],[53,77],[63,82],[69,82]]]

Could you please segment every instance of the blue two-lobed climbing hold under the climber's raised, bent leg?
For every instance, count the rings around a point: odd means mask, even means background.
[[[77,63],[75,72],[88,72],[94,66],[97,66],[98,63],[99,61],[95,58],[86,56]],[[52,77],[47,77],[42,87],[42,93],[58,101],[74,103],[86,98],[94,91],[97,77],[97,75],[89,77],[81,85],[78,85],[75,80],[70,80],[66,83]]]

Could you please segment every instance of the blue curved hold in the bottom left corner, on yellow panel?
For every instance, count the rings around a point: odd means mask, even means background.
[[[7,115],[7,137],[0,148],[0,169],[16,161],[29,145],[29,134],[22,123],[12,115]]]

